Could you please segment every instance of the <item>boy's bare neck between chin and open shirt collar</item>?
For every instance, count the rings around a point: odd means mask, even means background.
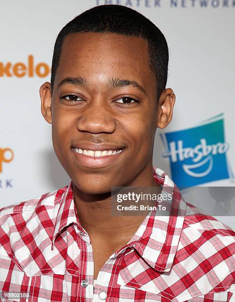
[[[153,173],[151,177],[136,186],[158,187]],[[160,193],[160,188],[159,188]],[[104,194],[86,194],[74,185],[74,200],[81,226],[89,235],[102,236],[104,239],[122,238],[129,241],[141,225],[144,216],[111,215],[111,192]]]

